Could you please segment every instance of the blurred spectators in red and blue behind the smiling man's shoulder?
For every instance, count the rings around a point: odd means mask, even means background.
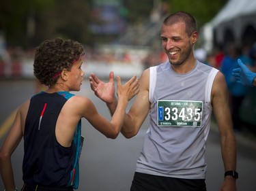
[[[241,117],[242,104],[251,87],[238,84],[232,75],[232,70],[238,67],[237,60],[240,58],[251,71],[256,71],[256,44],[253,46],[248,44],[242,44],[241,46],[236,44],[228,44],[225,47],[218,46],[210,54],[203,53],[203,50],[199,49],[195,50],[195,56],[201,62],[216,67],[225,75],[229,90],[233,129],[234,131],[245,131],[246,122]]]

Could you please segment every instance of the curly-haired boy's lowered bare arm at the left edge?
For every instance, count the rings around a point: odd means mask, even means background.
[[[11,156],[22,137],[20,110],[18,110],[10,133],[8,133],[0,150],[0,172],[6,191],[15,190]]]

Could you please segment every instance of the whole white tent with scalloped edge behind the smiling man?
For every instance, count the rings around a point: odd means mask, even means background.
[[[214,35],[218,44],[225,43],[227,29],[233,34],[236,43],[241,44],[248,26],[253,26],[256,30],[256,0],[229,0],[221,11],[203,26],[203,48],[208,52],[212,50]]]

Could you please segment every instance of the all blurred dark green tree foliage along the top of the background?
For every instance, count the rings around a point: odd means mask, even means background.
[[[160,0],[120,0],[128,24],[143,24]],[[85,44],[100,39],[89,29],[94,0],[1,0],[0,32],[8,46],[33,47],[44,39],[66,37]],[[195,16],[199,26],[208,22],[227,0],[166,0],[169,12],[183,10]],[[121,10],[120,10],[121,12]]]

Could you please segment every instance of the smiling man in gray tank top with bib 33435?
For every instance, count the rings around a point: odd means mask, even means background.
[[[236,140],[232,130],[224,75],[195,59],[195,18],[169,15],[161,28],[169,60],[143,71],[140,92],[126,114],[122,134],[137,135],[150,114],[150,125],[130,190],[206,190],[205,143],[212,111],[221,136],[225,177],[221,190],[236,190]],[[105,84],[91,74],[91,89],[115,111],[113,75]]]

